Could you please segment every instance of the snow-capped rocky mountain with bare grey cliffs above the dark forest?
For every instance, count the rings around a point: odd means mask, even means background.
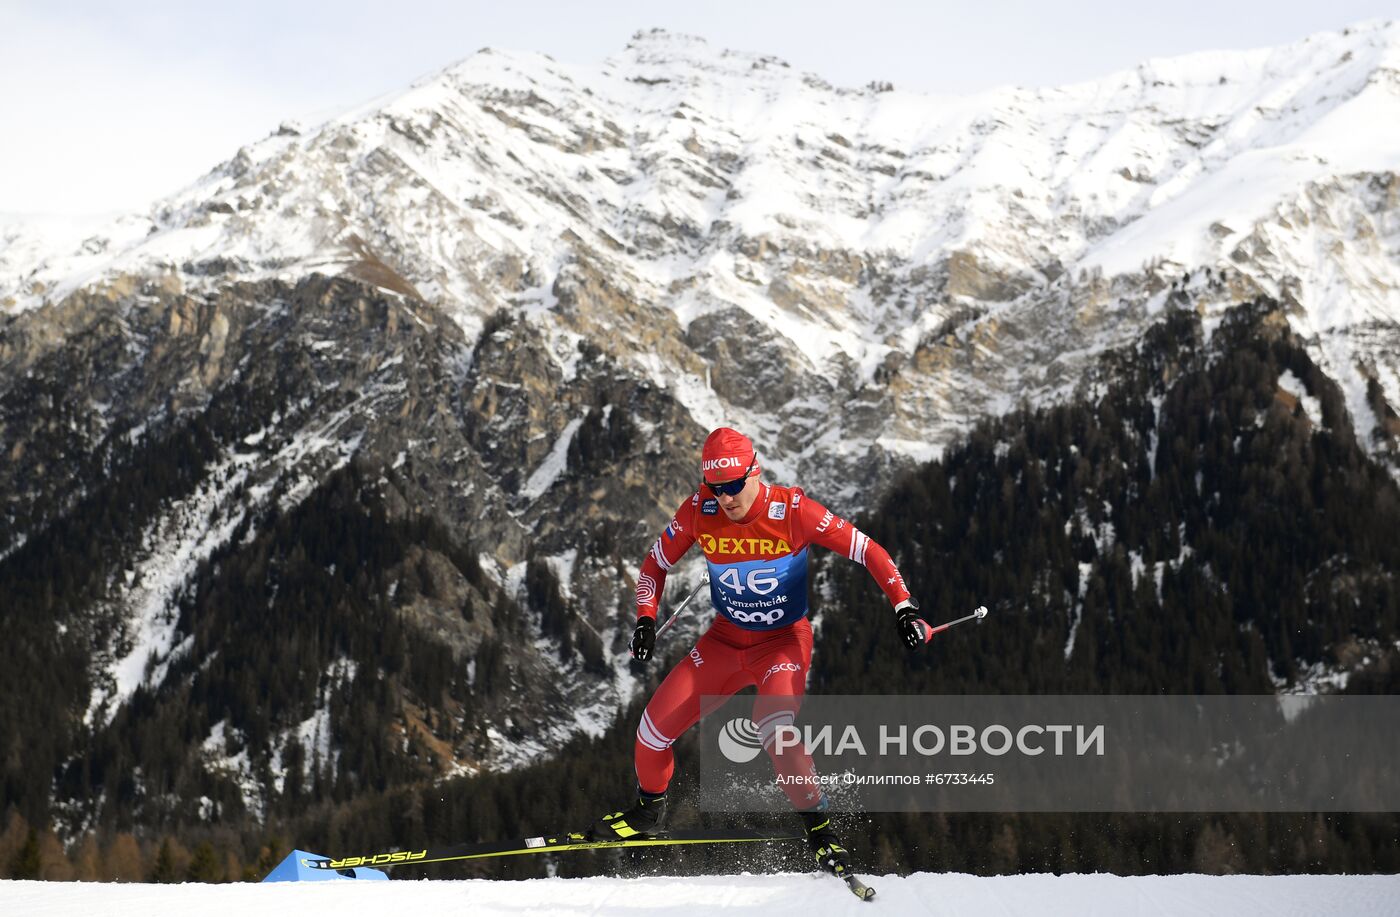
[[[147,213],[0,221],[0,561],[140,448],[216,430],[70,609],[102,622],[101,724],[193,651],[202,561],[351,461],[393,472],[399,517],[470,533],[470,589],[546,616],[531,725],[449,755],[510,763],[633,690],[578,641],[620,647],[707,428],[855,512],[979,417],[1084,393],[1162,309],[1260,294],[1397,468],[1400,24],[966,98],[658,31],[602,64],[482,50]],[[412,606],[476,652],[480,619],[442,610],[456,570]]]

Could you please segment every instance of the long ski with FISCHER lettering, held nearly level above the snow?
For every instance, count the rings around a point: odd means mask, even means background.
[[[396,850],[381,854],[342,857],[337,860],[312,860],[308,857],[302,860],[302,865],[312,869],[353,869],[357,867],[392,868],[423,865],[428,862],[455,862],[459,860],[486,860],[489,857],[564,853],[570,850],[672,847],[682,844],[752,844],[770,840],[801,840],[801,837],[783,832],[757,832],[748,829],[694,829],[666,832],[655,837],[634,837],[630,840],[588,840],[585,834],[573,832],[549,837],[524,837],[519,840],[456,844],[452,847],[427,847],[424,850]]]

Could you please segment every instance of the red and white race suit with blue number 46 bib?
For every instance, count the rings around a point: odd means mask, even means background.
[[[713,497],[696,491],[657,539],[637,578],[637,615],[655,617],[666,571],[696,542],[710,567],[710,601],[718,615],[690,654],[666,675],[637,727],[637,784],[664,792],[675,773],[671,745],[711,708],[757,686],[753,725],[798,809],[820,801],[809,780],[812,759],[788,749],[774,755],[778,727],[794,722],[812,662],[806,620],[808,546],[820,545],[864,564],[890,605],[909,598],[889,553],[801,487],[760,484],[748,515],[734,522]]]

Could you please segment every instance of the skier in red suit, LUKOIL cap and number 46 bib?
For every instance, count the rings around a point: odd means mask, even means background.
[[[729,427],[713,431],[704,442],[700,470],[701,489],[680,504],[643,561],[637,629],[629,650],[643,662],[651,657],[666,571],[696,542],[710,567],[710,601],[718,615],[641,714],[634,745],[637,802],[595,822],[589,834],[603,840],[659,833],[675,771],[671,746],[710,713],[700,708],[701,696],[728,697],[756,685],[753,722],[784,777],[783,790],[802,819],[808,847],[822,867],[846,876],[850,857],[826,815],[826,794],[818,788],[811,756],[804,749],[774,753],[776,732],[794,722],[812,661],[808,546],[839,552],[869,570],[895,606],[900,638],[910,650],[924,645],[931,629],[918,617],[918,602],[909,595],[883,547],[801,487],[759,480],[762,469],[748,437]]]

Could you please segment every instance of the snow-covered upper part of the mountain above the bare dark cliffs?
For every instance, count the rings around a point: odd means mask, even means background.
[[[507,308],[827,486],[841,456],[927,456],[970,416],[1063,392],[1086,344],[1131,337],[1159,284],[1207,269],[1231,284],[1203,304],[1292,297],[1334,372],[1359,361],[1400,400],[1365,330],[1400,319],[1400,25],[1050,90],[883,88],[666,32],[601,66],[482,50],[284,125],[76,244],[7,230],[0,300],[14,315],[122,276],[195,294],[318,270],[469,335]],[[629,309],[588,308],[603,280]],[[804,385],[753,391],[735,377],[759,361],[714,337],[780,353]]]

